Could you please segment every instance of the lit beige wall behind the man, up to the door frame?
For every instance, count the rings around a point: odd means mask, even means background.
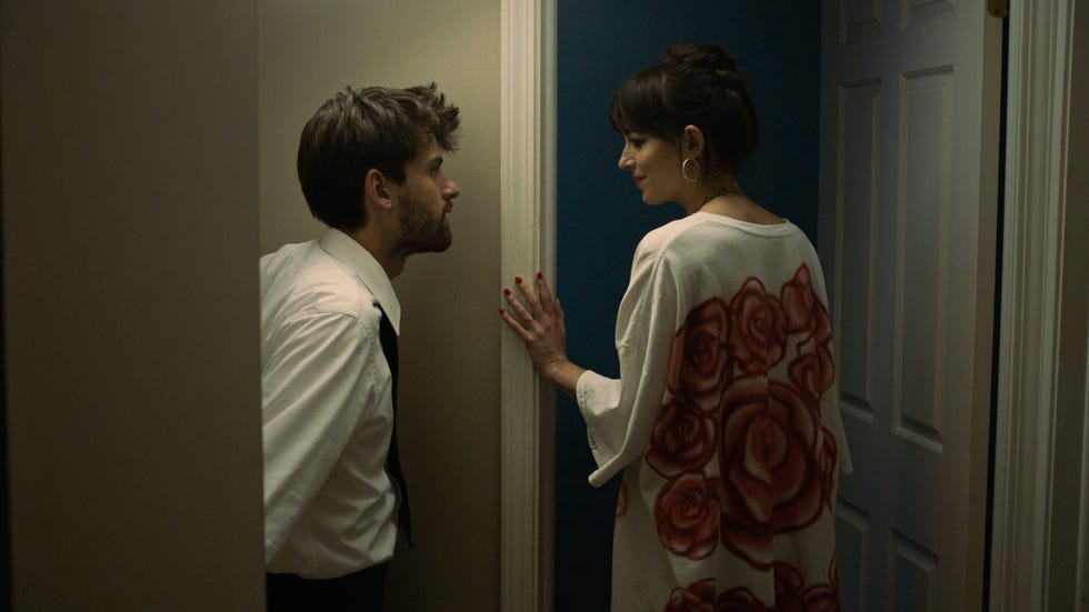
[[[414,549],[402,546],[390,610],[499,606],[498,0],[268,0],[258,7],[261,251],[312,238],[294,157],[314,110],[346,84],[436,81],[461,108],[453,245],[410,258],[399,435]]]

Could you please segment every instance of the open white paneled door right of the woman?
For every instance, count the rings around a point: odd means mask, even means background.
[[[821,51],[843,610],[980,610],[1001,21],[982,0],[825,0]]]

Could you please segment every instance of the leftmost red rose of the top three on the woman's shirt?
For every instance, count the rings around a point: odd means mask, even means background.
[[[705,410],[715,410],[730,357],[726,350],[729,335],[726,302],[713,298],[693,308],[673,338],[669,390]]]

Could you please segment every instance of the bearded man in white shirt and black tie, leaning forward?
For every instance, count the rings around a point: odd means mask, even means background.
[[[269,610],[381,609],[407,520],[390,280],[450,245],[459,121],[434,83],[349,88],[302,131],[299,182],[328,229],[260,262]]]

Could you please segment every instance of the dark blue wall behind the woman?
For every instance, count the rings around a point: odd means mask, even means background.
[[[636,244],[682,211],[645,205],[630,174],[617,169],[613,89],[671,44],[721,44],[748,78],[763,124],[739,181],[816,243],[820,2],[558,0],[557,11],[557,291],[571,359],[616,377],[616,312]],[[556,424],[556,610],[603,612],[619,476],[602,489],[587,483],[595,464],[586,427],[562,394]]]

